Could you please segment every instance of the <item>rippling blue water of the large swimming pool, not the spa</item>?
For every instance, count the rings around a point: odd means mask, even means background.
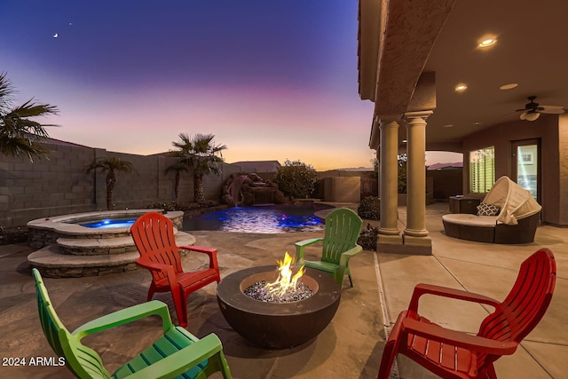
[[[201,216],[185,217],[184,230],[218,230],[244,233],[288,233],[323,230],[324,223],[314,212],[326,205],[270,205],[235,207]]]

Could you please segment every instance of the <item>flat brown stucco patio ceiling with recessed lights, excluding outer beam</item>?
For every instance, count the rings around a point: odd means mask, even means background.
[[[482,50],[477,43],[485,35],[495,36],[497,43]],[[437,108],[428,118],[428,146],[521,122],[515,110],[531,95],[541,106],[568,109],[566,37],[567,1],[458,0],[423,69],[436,73]],[[458,83],[467,84],[467,91],[454,91]],[[499,89],[507,83],[518,86]]]

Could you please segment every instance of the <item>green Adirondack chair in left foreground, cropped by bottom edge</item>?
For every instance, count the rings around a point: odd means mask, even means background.
[[[231,372],[223,354],[221,341],[214,334],[198,339],[181,327],[174,327],[168,306],[158,300],[138,304],[99,319],[87,322],[69,333],[61,323],[40,273],[34,269],[37,290],[37,306],[43,333],[51,348],[65,358],[67,367],[75,376],[86,378],[206,378],[216,371],[231,378]],[[142,351],[130,362],[110,375],[96,351],[81,343],[81,339],[102,330],[114,328],[147,316],[162,318],[163,336]],[[136,336],[130,336],[136,338]]]

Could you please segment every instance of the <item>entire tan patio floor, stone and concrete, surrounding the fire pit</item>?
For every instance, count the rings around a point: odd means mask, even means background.
[[[536,239],[527,245],[507,246],[456,240],[443,233],[441,215],[447,204],[427,207],[427,229],[433,255],[405,256],[375,254],[365,250],[351,260],[355,287],[344,285],[341,304],[331,324],[314,340],[292,349],[271,351],[259,348],[236,334],[218,309],[216,285],[211,284],[189,297],[188,330],[196,336],[216,333],[235,378],[374,378],[381,361],[384,325],[396,320],[405,309],[414,285],[428,282],[492,296],[502,300],[517,277],[520,263],[541,247],[556,257],[556,290],[547,314],[517,352],[499,359],[495,366],[501,379],[562,378],[568,372],[568,230],[541,226]],[[406,209],[399,209],[404,229]],[[218,249],[222,277],[254,265],[275,265],[294,242],[322,232],[252,234],[191,232],[196,245]],[[2,357],[53,357],[37,317],[35,286],[24,245],[0,246],[0,355]],[[317,254],[317,248],[310,250]],[[187,269],[205,261],[184,258]],[[99,277],[45,278],[59,317],[73,330],[88,320],[146,300],[150,274],[136,270]],[[348,283],[348,280],[346,280]],[[154,298],[173,310],[169,294]],[[476,304],[440,301],[425,297],[421,313],[448,328],[476,332],[489,309]],[[175,321],[175,312],[172,319]],[[383,317],[384,316],[384,317]],[[161,333],[157,319],[137,321],[111,332],[83,340],[99,351],[109,371],[151,343]],[[398,358],[399,377],[437,377],[404,357]],[[65,367],[4,367],[0,377],[72,377]]]

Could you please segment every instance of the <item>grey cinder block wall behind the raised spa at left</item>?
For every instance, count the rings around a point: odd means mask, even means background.
[[[174,174],[166,175],[165,170],[176,158],[114,153],[57,140],[43,146],[51,151],[49,159],[32,163],[27,156],[0,156],[0,225],[26,225],[35,218],[106,209],[106,174],[85,171],[98,157],[116,156],[134,167],[131,173],[117,173],[115,209],[174,200]],[[219,200],[225,180],[239,171],[240,166],[224,164],[221,176],[204,178],[206,198]],[[181,175],[177,201],[193,201],[190,172]]]

